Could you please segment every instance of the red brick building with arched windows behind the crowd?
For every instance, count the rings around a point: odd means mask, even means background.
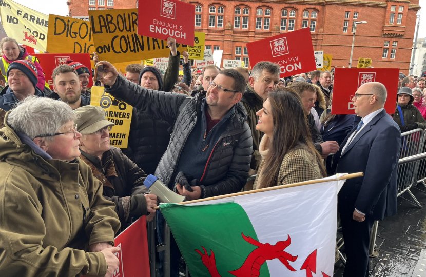
[[[88,9],[135,8],[136,0],[70,0],[72,16]],[[311,29],[314,50],[333,55],[333,66],[348,66],[354,22],[353,64],[372,58],[374,67],[408,73],[418,0],[235,1],[183,0],[196,6],[195,28],[206,33],[206,47],[223,50],[223,58],[248,61],[246,44],[258,39]],[[119,4],[120,3],[120,4]],[[95,4],[95,5],[89,5]],[[102,5],[99,5],[102,4]]]

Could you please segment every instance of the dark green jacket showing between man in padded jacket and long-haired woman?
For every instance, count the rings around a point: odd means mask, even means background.
[[[259,144],[263,133],[256,130],[259,117],[256,115],[263,107],[263,99],[255,90],[247,83],[243,97],[241,98],[245,110],[247,111],[247,124],[251,129],[251,137],[253,137],[253,153],[251,153],[250,168],[257,170],[262,156],[259,154]]]

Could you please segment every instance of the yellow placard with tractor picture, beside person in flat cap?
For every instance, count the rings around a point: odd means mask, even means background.
[[[104,87],[92,87],[90,105],[105,110],[105,118],[115,126],[109,132],[110,145],[127,148],[133,107],[104,91]]]

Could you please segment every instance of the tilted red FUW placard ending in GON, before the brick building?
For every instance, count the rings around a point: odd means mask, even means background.
[[[269,61],[280,66],[280,77],[317,70],[311,32],[304,28],[247,43],[251,67]]]

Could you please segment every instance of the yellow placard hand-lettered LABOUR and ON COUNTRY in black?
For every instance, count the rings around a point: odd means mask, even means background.
[[[121,63],[169,56],[166,41],[138,35],[138,9],[92,10],[89,19],[99,60]],[[187,50],[186,45],[177,48]]]

